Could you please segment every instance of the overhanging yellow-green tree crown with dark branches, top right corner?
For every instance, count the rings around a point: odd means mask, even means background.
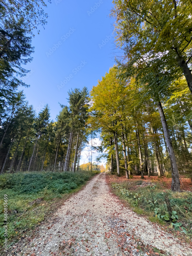
[[[129,63],[185,76],[192,92],[191,1],[113,1],[117,40]],[[151,60],[148,63],[146,60]]]

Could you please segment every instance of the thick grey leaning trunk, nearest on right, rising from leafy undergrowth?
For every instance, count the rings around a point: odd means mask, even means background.
[[[180,192],[181,191],[180,190],[180,180],[179,180],[179,172],[178,172],[175,152],[174,152],[174,149],[173,149],[172,141],[171,141],[170,134],[169,134],[169,129],[168,129],[168,126],[167,126],[167,121],[165,119],[165,115],[164,115],[163,108],[162,108],[162,105],[161,105],[160,101],[157,103],[157,107],[158,107],[159,115],[161,117],[163,131],[164,131],[165,140],[166,140],[166,143],[167,143],[167,149],[168,149],[170,162],[171,162],[171,170],[172,170],[171,189],[172,189],[172,191],[179,191]]]

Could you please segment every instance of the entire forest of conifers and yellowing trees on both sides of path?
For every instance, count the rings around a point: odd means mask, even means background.
[[[6,3],[1,9],[0,173],[78,171],[94,135],[111,173],[171,173],[172,190],[180,191],[179,173],[191,178],[191,2],[114,0],[121,56],[90,92],[71,89],[56,121],[48,105],[36,114],[18,91],[28,86],[18,77],[29,72],[23,65],[32,60],[35,24],[44,27],[47,16],[38,4],[19,10],[19,3],[9,3],[16,17]]]

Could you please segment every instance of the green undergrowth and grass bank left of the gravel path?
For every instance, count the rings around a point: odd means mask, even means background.
[[[34,229],[69,194],[98,172],[31,172],[0,176],[0,243],[4,242],[4,195],[8,198],[8,239]],[[19,238],[19,237],[18,237]],[[10,245],[10,243],[9,243]]]

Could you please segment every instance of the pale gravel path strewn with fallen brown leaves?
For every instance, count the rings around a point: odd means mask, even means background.
[[[187,245],[124,207],[110,193],[105,174],[99,174],[39,231],[20,241],[18,253],[8,255],[149,255],[150,249],[137,249],[142,241],[173,256],[192,255]]]

